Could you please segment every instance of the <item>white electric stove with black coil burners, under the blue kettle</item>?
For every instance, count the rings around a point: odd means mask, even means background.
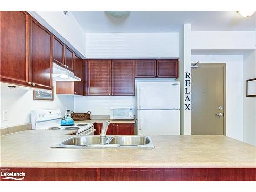
[[[95,131],[92,123],[78,123],[71,126],[60,124],[60,109],[33,110],[31,112],[32,129],[40,130],[77,130],[78,135],[90,135]]]

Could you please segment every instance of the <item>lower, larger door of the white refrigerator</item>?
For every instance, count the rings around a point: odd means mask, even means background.
[[[180,110],[138,110],[138,135],[180,135]]]

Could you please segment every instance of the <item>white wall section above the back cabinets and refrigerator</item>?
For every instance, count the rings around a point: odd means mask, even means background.
[[[86,33],[87,58],[179,57],[179,33]]]

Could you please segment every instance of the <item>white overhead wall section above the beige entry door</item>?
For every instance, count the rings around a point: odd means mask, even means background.
[[[191,31],[191,49],[255,49],[255,31]]]

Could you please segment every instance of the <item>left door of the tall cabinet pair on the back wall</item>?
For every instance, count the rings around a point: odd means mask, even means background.
[[[111,60],[88,60],[87,95],[110,95]]]

